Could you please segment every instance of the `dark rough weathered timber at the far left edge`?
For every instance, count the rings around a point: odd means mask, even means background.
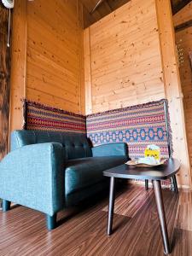
[[[10,49],[7,47],[9,10],[0,4],[0,160],[8,152]]]

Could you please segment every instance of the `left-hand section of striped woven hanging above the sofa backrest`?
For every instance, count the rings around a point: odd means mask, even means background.
[[[86,133],[85,116],[24,100],[24,129]]]

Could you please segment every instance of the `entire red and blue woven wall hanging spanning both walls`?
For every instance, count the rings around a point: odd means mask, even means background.
[[[143,156],[148,144],[172,154],[172,132],[166,100],[119,108],[88,116],[24,100],[24,129],[87,133],[93,146],[127,143],[131,158]]]

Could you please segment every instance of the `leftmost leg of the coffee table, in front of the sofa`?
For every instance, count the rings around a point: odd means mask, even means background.
[[[108,202],[108,236],[112,233],[114,208],[114,177],[110,177],[109,202]]]

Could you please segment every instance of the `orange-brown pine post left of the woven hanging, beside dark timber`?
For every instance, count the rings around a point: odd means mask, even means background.
[[[26,1],[15,1],[11,53],[10,131],[23,125],[21,98],[26,97]]]

